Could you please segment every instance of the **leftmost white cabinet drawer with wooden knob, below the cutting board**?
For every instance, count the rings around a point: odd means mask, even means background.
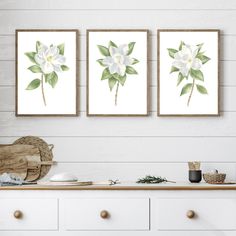
[[[56,230],[57,199],[0,199],[0,230]]]

